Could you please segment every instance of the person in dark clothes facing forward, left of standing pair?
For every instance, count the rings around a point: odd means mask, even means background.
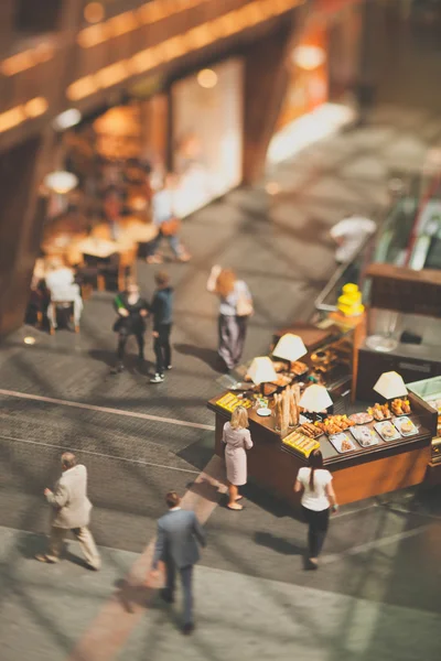
[[[118,313],[118,318],[114,324],[114,330],[118,333],[118,362],[115,371],[121,372],[126,344],[130,335],[135,335],[137,338],[139,360],[144,359],[146,317],[149,314],[149,306],[146,299],[142,299],[138,284],[131,282],[125,292],[120,292],[116,296],[114,307]]]

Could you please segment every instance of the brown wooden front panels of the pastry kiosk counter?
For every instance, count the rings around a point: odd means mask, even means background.
[[[223,456],[222,432],[230,413],[216,402],[225,393],[208,402],[216,416],[215,452]],[[338,454],[324,434],[318,437],[325,467],[334,478],[334,488],[341,505],[378,496],[396,489],[410,487],[424,480],[431,459],[431,440],[437,431],[437,413],[409,394],[410,420],[418,427],[411,436],[395,441],[379,440],[377,445],[363,448],[354,438],[355,449]],[[273,418],[260,418],[249,409],[249,429],[254,448],[248,452],[248,475],[261,487],[299,506],[298,495],[292,487],[297,473],[308,459],[286,446],[280,433],[276,432]],[[372,427],[375,421],[366,426]],[[348,434],[351,436],[351,433]]]

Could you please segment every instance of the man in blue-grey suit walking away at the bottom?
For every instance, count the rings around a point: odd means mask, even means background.
[[[158,577],[158,563],[165,564],[166,584],[161,590],[164,602],[174,602],[176,568],[181,574],[184,593],[184,627],[189,635],[194,629],[193,621],[193,566],[200,560],[197,542],[206,545],[205,532],[193,511],[182,510],[181,498],[175,491],[165,497],[169,512],[158,521],[158,538],[152,562],[152,577]],[[197,541],[196,541],[197,540]]]

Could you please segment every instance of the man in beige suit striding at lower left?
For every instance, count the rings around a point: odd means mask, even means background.
[[[54,490],[44,489],[44,496],[53,508],[51,537],[47,552],[39,553],[35,559],[40,562],[58,562],[64,540],[71,530],[80,544],[87,567],[98,571],[101,561],[88,529],[92,502],[87,498],[86,466],[77,464],[72,452],[65,452],[62,454],[62,472]]]

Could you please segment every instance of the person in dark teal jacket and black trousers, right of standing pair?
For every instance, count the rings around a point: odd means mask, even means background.
[[[170,334],[173,323],[173,288],[165,271],[155,274],[157,291],[150,306],[153,315],[153,349],[157,357],[157,371],[150,383],[162,383],[164,370],[172,369]]]

